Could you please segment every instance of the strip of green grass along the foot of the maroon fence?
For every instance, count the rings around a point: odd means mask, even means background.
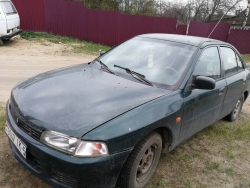
[[[99,54],[99,50],[108,51],[111,47],[101,44],[95,44],[92,42],[81,41],[73,37],[62,37],[58,35],[51,35],[48,33],[38,33],[38,32],[27,32],[21,33],[21,37],[26,40],[36,40],[36,41],[48,41],[55,44],[64,44],[71,46],[74,53],[85,53],[85,54]]]

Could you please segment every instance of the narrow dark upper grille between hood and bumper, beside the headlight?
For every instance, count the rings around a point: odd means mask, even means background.
[[[14,100],[12,99],[11,102],[14,103]],[[10,106],[10,113],[13,117],[13,119],[15,120],[17,126],[24,131],[25,133],[27,133],[28,135],[30,135],[32,138],[39,140],[43,130],[39,129],[36,125],[34,125],[33,123],[25,120],[23,117],[21,117],[15,110],[14,105],[11,103]]]

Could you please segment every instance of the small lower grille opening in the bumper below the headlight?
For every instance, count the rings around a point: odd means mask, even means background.
[[[57,182],[65,184],[70,187],[76,187],[79,182],[76,177],[65,174],[53,168],[51,169],[51,176]]]

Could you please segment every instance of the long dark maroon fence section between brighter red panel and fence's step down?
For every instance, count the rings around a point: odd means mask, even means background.
[[[175,33],[177,20],[84,9],[81,2],[44,0],[47,32],[117,45],[144,33]],[[56,7],[56,8],[55,8]]]

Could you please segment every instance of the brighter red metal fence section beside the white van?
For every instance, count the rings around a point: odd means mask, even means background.
[[[29,31],[46,31],[44,0],[12,0],[20,16],[20,27]]]

